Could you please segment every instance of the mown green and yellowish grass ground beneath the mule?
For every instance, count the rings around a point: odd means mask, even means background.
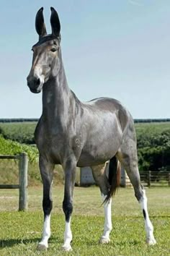
[[[18,190],[1,189],[0,255],[170,255],[170,188],[146,189],[157,244],[145,243],[143,216],[133,189],[120,189],[112,204],[110,244],[98,244],[103,207],[98,187],[75,187],[72,218],[73,252],[61,249],[64,231],[63,186],[53,189],[52,236],[48,252],[37,252],[42,232],[42,187],[29,188],[29,210],[17,212]]]

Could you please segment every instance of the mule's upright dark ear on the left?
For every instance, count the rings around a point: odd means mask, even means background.
[[[37,14],[35,17],[35,28],[40,38],[44,35],[47,35],[42,12],[43,12],[43,7],[41,7],[40,10],[37,11]]]

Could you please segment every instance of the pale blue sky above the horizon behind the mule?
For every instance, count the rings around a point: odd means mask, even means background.
[[[116,98],[135,119],[170,118],[169,0],[8,0],[0,3],[0,119],[39,118],[42,93],[27,75],[37,43],[35,15],[61,21],[68,86],[81,101]]]

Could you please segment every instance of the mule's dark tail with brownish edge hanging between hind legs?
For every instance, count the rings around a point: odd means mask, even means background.
[[[108,202],[109,199],[115,195],[117,188],[120,187],[120,170],[121,170],[120,161],[117,161],[116,156],[114,156],[109,161],[108,182],[110,187],[104,202]]]

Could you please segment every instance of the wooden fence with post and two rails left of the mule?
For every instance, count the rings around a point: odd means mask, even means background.
[[[27,210],[27,154],[0,155],[0,159],[19,161],[19,184],[0,184],[0,189],[19,189],[19,210]]]

